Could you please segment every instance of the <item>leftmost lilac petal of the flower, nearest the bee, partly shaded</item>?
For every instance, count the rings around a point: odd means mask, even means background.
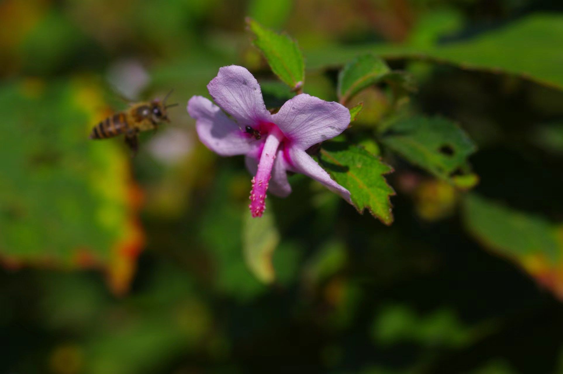
[[[244,155],[258,146],[245,136],[220,107],[203,96],[193,96],[187,102],[187,112],[195,119],[200,141],[221,156]]]

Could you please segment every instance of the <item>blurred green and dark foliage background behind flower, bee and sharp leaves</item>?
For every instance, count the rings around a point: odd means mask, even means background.
[[[563,93],[547,82],[563,74],[561,12],[556,0],[1,1],[0,372],[563,373]],[[245,262],[243,158],[203,147],[185,112],[221,66],[275,81],[245,16],[298,40],[305,91],[325,100],[356,49],[398,48],[388,62],[414,76],[410,105],[475,141],[478,195],[391,157],[387,227],[294,175],[292,195],[268,201],[275,281],[260,281]],[[547,78],[413,57],[522,22],[539,31],[473,53],[510,46],[504,65]],[[127,101],[172,88],[172,124],[142,134],[136,157],[122,139],[87,139]],[[369,128],[386,99],[361,95]]]

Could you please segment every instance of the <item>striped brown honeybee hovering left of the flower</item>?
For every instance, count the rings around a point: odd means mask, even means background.
[[[133,103],[129,109],[106,118],[97,124],[90,133],[90,139],[113,138],[125,134],[125,142],[133,152],[138,150],[138,133],[141,131],[157,129],[158,125],[170,119],[167,109],[178,105],[166,105],[166,100],[172,91],[160,101],[145,101]]]

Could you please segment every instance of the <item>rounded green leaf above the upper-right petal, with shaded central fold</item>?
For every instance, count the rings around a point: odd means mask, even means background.
[[[356,57],[346,64],[338,75],[338,100],[346,103],[362,89],[379,82],[390,69],[381,58],[374,55]]]

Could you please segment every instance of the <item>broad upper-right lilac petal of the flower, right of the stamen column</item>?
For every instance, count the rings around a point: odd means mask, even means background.
[[[285,102],[272,119],[294,145],[306,150],[342,133],[350,124],[350,111],[337,102],[302,93]]]

